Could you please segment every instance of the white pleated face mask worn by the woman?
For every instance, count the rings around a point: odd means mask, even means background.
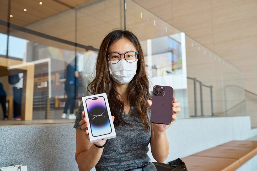
[[[121,59],[120,62],[116,64],[112,64],[109,62],[111,78],[113,78],[115,82],[120,84],[129,83],[136,75],[137,71],[137,60],[135,62],[132,61],[131,63],[129,63],[125,59]]]

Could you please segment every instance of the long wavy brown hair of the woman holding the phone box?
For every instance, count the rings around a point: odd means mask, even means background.
[[[127,30],[114,30],[111,31],[103,39],[96,62],[96,75],[93,81],[89,84],[89,91],[95,95],[99,93],[106,93],[110,105],[112,115],[115,117],[114,126],[120,124],[127,124],[133,127],[133,125],[124,121],[122,113],[124,111],[124,103],[120,100],[119,93],[114,89],[113,79],[111,79],[108,59],[106,58],[107,49],[112,43],[120,40],[121,38],[127,38],[133,43],[138,52],[137,71],[134,78],[128,84],[128,105],[134,106],[136,114],[139,116],[141,123],[146,132],[150,131],[149,118],[147,116],[147,100],[149,98],[149,80],[146,73],[146,66],[144,60],[144,54],[140,42],[137,37],[130,31]],[[131,109],[130,109],[131,112]],[[135,118],[135,116],[134,116]]]

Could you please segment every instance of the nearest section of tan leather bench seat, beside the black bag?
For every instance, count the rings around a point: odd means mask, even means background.
[[[189,171],[233,171],[240,166],[237,159],[202,156],[181,158]]]

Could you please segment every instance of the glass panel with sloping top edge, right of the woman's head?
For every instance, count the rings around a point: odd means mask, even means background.
[[[140,38],[152,83],[174,88],[179,118],[245,115],[245,103],[234,112],[244,92],[226,88],[244,87],[242,70],[131,0],[126,28]]]

